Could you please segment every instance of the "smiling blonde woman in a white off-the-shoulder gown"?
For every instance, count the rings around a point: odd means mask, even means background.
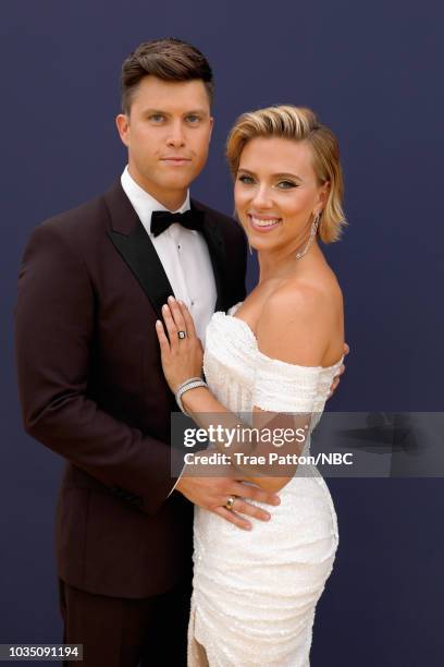
[[[337,240],[344,223],[337,142],[309,109],[271,107],[237,120],[227,159],[259,281],[209,324],[208,385],[187,385],[200,376],[201,347],[185,305],[170,299],[166,331],[157,323],[163,369],[200,426],[208,414],[239,425],[236,415],[249,413],[259,429],[293,420],[307,429],[306,454],[344,349],[342,293],[318,244]],[[261,451],[259,440],[255,447]],[[279,492],[281,505],[249,535],[196,508],[189,665],[307,666],[316,604],[338,543],[330,493],[313,466],[293,462],[268,476],[238,459],[235,468],[237,477]],[[236,504],[242,498],[231,497],[225,511]]]

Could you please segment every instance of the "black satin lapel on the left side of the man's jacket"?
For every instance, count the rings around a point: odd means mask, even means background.
[[[109,231],[108,235],[139,281],[159,319],[162,319],[162,305],[174,292],[144,226],[138,221],[130,235],[115,231]]]

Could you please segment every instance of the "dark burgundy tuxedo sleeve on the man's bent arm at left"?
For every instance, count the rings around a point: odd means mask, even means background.
[[[15,308],[25,430],[153,514],[176,482],[171,470],[183,461],[165,442],[114,419],[88,397],[95,299],[86,266],[60,229],[38,227],[24,254]]]

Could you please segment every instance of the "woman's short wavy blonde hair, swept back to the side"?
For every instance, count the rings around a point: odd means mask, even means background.
[[[333,132],[318,121],[311,109],[305,107],[281,105],[243,113],[226,141],[226,158],[233,177],[236,177],[245,146],[259,136],[288,138],[310,145],[319,184],[330,183],[329,196],[321,214],[319,235],[324,243],[337,241],[346,221],[342,207],[344,179],[340,163],[340,146]]]

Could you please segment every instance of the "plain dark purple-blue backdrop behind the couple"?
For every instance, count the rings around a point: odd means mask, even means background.
[[[350,225],[328,255],[345,292],[351,354],[330,408],[441,411],[443,20],[439,2],[411,0],[2,4],[0,643],[61,641],[61,460],[21,426],[12,347],[20,257],[35,225],[121,172],[113,118],[123,58],[169,35],[208,56],[217,124],[193,193],[226,213],[223,143],[239,112],[294,102],[332,126]],[[444,481],[329,486],[341,544],[318,607],[312,666],[443,665]]]

